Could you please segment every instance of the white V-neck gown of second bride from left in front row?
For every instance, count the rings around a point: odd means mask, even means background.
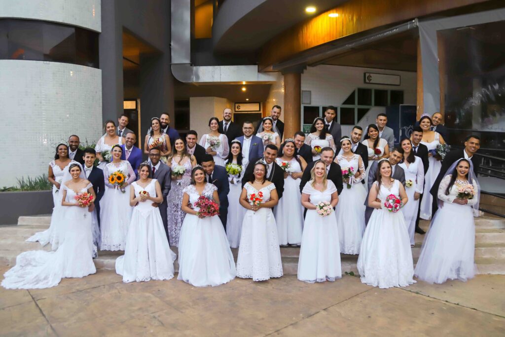
[[[156,179],[142,188],[137,182],[131,185],[135,197],[140,191],[156,196]],[[128,193],[129,195],[129,193]],[[123,276],[123,282],[169,280],[174,277],[175,253],[170,250],[163,228],[160,209],[146,200],[133,208],[125,254],[116,259],[116,273]]]

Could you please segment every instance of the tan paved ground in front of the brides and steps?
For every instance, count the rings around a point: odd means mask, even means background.
[[[175,279],[125,284],[99,270],[46,290],[0,287],[0,334],[503,336],[505,275],[388,290],[354,276],[196,288]]]

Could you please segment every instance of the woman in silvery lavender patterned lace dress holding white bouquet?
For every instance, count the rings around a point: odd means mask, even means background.
[[[191,183],[191,169],[196,166],[196,159],[187,153],[186,143],[182,137],[174,140],[174,152],[169,158],[168,166],[172,170],[171,187],[167,196],[168,236],[170,246],[177,247],[182,222],[186,216],[181,209],[182,195],[184,188]]]

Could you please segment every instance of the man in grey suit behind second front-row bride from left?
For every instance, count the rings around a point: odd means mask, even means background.
[[[160,161],[161,152],[158,148],[153,148],[149,150],[149,167],[150,167],[150,176],[158,180],[161,186],[161,194],[163,195],[163,202],[161,204],[153,203],[154,207],[158,207],[160,209],[161,219],[163,220],[163,227],[165,228],[165,233],[168,238],[168,217],[167,217],[167,196],[170,191],[170,183],[171,183],[171,170],[168,165],[163,164]]]

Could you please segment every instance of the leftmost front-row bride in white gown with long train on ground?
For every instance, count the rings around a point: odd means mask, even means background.
[[[93,263],[90,207],[80,207],[74,197],[82,192],[94,196],[93,185],[83,178],[79,163],[70,165],[72,180],[61,184],[62,221],[65,239],[55,252],[29,251],[18,255],[2,286],[8,289],[38,289],[58,285],[64,277],[84,277],[96,272]],[[77,192],[76,192],[77,191]]]

